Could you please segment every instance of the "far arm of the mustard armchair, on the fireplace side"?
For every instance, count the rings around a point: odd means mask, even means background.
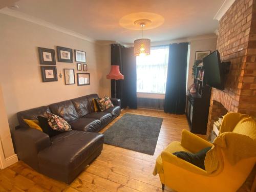
[[[213,145],[210,142],[202,139],[201,137],[198,137],[193,133],[190,133],[187,130],[182,130],[181,146],[183,146],[192,153],[197,153],[203,148]]]

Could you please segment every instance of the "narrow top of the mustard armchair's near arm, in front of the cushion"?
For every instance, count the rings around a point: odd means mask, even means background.
[[[204,169],[201,169],[201,168],[197,167],[196,165],[193,165],[183,159],[180,159],[177,156],[175,156],[172,153],[169,153],[167,151],[163,151],[161,153],[161,158],[163,161],[163,169],[164,170],[172,169],[172,167],[169,167],[170,164],[172,164],[172,165],[176,165],[180,168],[183,168],[189,172],[208,176],[207,172]]]

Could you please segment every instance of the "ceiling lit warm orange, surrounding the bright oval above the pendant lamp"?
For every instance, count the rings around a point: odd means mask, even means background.
[[[131,44],[141,32],[119,25],[131,13],[161,15],[164,23],[144,31],[152,41],[212,34],[218,27],[214,16],[225,0],[20,0],[17,11],[72,30],[94,40]],[[141,18],[138,18],[141,19]]]

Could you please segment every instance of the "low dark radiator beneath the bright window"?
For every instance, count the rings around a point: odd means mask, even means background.
[[[163,110],[164,99],[137,98],[138,108]]]

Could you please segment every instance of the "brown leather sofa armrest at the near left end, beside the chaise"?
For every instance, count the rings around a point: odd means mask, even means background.
[[[21,127],[12,133],[12,137],[18,158],[38,170],[37,154],[51,145],[49,136],[36,129]]]

